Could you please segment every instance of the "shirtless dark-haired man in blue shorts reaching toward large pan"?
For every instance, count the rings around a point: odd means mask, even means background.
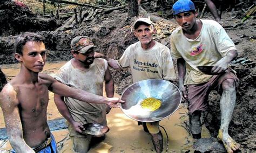
[[[21,64],[19,74],[6,84],[0,95],[5,127],[16,152],[57,152],[56,142],[47,124],[49,91],[91,103],[118,108],[118,98],[104,98],[61,84],[50,75],[39,73],[46,61],[43,37],[24,33],[16,39],[15,58]]]

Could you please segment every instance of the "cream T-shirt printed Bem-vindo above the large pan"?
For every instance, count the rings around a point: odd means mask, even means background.
[[[144,50],[140,41],[130,45],[117,62],[122,68],[131,68],[133,82],[176,79],[170,50],[157,41],[149,50]]]

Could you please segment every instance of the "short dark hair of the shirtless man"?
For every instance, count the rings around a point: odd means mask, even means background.
[[[43,36],[33,33],[33,32],[24,32],[22,34],[19,34],[19,36],[15,40],[15,52],[18,54],[23,55],[23,46],[28,41],[37,41],[37,42],[44,42]]]

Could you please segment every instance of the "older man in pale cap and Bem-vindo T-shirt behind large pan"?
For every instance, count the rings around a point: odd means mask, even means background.
[[[134,83],[146,79],[176,79],[170,50],[152,39],[155,33],[156,29],[149,18],[139,18],[134,24],[134,35],[139,41],[127,47],[119,60],[100,53],[95,53],[95,57],[105,58],[117,70],[130,67]],[[156,151],[161,152],[163,136],[159,130],[159,121],[143,123],[143,126],[145,131],[149,130]]]

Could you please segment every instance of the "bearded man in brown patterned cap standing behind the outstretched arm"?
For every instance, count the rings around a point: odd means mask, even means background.
[[[89,37],[78,36],[73,38],[71,41],[73,59],[59,69],[55,79],[65,85],[101,96],[105,83],[106,96],[112,98],[114,84],[109,66],[105,59],[94,59],[95,48],[97,47],[93,45]],[[85,103],[57,94],[55,94],[54,100],[60,114],[68,120],[73,151],[87,152],[90,149],[91,142],[104,140],[105,137],[96,138],[83,135],[83,124],[101,123],[106,125],[106,114],[110,112],[110,107],[96,103]]]

